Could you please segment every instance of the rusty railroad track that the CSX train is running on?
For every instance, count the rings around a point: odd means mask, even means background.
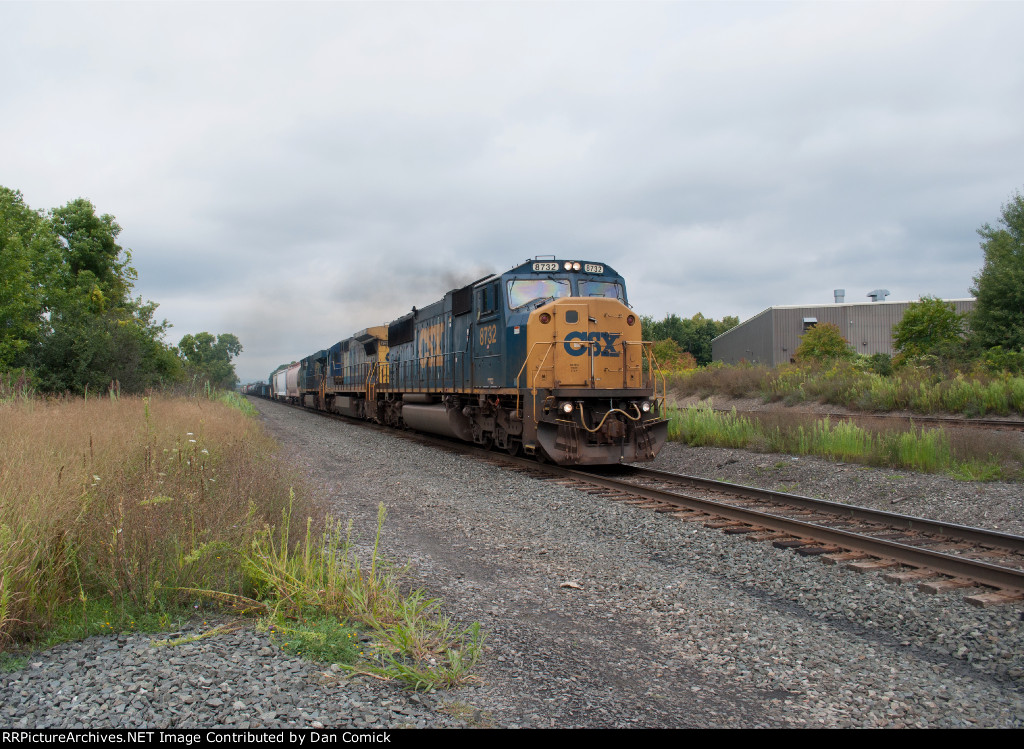
[[[633,465],[594,469],[539,463],[444,438],[303,410],[471,455],[727,534],[770,541],[826,564],[881,572],[889,582],[915,583],[925,592],[971,589],[965,599],[974,606],[1024,600],[1024,536]]]

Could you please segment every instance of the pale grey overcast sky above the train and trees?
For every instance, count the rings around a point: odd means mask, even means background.
[[[0,2],[0,184],[243,381],[539,254],[641,314],[969,296],[1024,3]]]

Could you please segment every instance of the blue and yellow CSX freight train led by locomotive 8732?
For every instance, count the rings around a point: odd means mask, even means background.
[[[266,387],[513,455],[601,464],[651,460],[665,444],[657,382],[623,278],[538,258],[281,367]]]

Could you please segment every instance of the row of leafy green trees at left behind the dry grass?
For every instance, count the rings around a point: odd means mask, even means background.
[[[158,322],[157,303],[132,296],[138,274],[120,234],[84,198],[44,212],[0,186],[0,374],[46,392],[234,387],[239,339],[204,332],[166,343],[171,325]]]

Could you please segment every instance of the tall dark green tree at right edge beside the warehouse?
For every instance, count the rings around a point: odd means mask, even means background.
[[[1002,206],[1000,227],[978,230],[985,255],[971,293],[977,298],[971,316],[974,342],[983,348],[1024,350],[1024,196]]]

